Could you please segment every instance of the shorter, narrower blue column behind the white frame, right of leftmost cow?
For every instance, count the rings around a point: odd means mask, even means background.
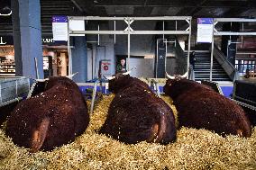
[[[77,83],[87,81],[87,40],[86,37],[72,37],[74,49],[72,49],[72,73],[78,72],[73,77]]]

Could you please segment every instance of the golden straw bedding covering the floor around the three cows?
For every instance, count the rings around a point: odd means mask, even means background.
[[[177,140],[167,146],[146,142],[125,145],[99,135],[97,130],[113,98],[105,96],[98,103],[84,134],[51,152],[31,154],[15,146],[5,136],[4,123],[0,130],[0,169],[256,169],[256,128],[248,139],[181,128]],[[169,97],[163,99],[171,103]]]

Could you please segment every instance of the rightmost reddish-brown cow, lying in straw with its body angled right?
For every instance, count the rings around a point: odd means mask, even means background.
[[[180,126],[251,136],[251,123],[238,104],[186,76],[168,77],[163,90],[174,100]]]

